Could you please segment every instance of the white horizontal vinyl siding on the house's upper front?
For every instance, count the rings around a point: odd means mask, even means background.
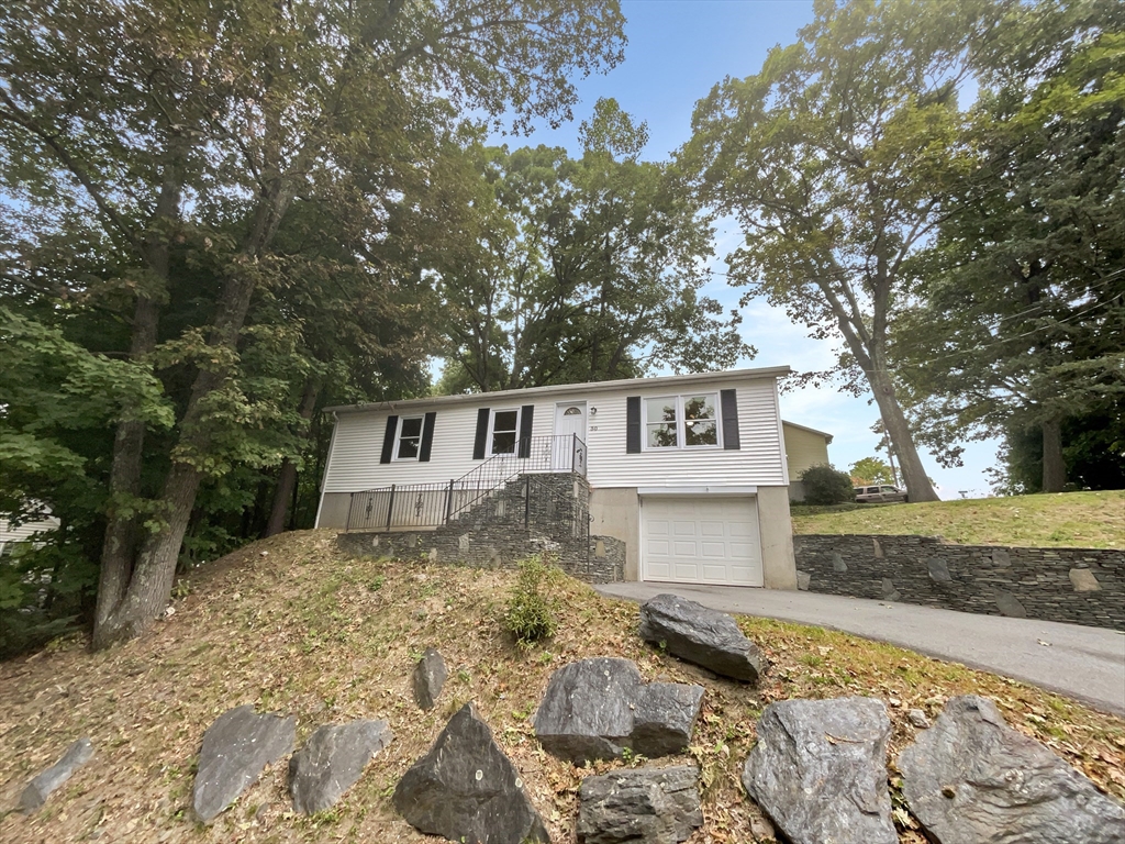
[[[595,385],[596,387],[596,385]],[[662,449],[626,452],[626,398],[670,395],[668,385],[646,387],[644,380],[620,389],[597,390],[576,387],[573,394],[528,395],[513,401],[511,395],[490,404],[486,395],[478,402],[443,404],[441,399],[410,403],[390,411],[341,412],[324,479],[324,492],[349,493],[390,484],[449,482],[477,466],[472,459],[477,408],[510,410],[534,405],[532,437],[555,433],[555,408],[560,402],[586,402],[588,467],[586,477],[594,487],[748,485],[782,486],[788,483],[780,434],[780,416],[773,377],[726,379],[701,384],[678,395],[718,396],[720,389],[737,390],[740,450],[722,448]],[[433,446],[429,463],[399,460],[380,464],[387,416],[418,415],[436,411]],[[644,424],[644,417],[641,420]],[[486,457],[492,448],[489,438]]]

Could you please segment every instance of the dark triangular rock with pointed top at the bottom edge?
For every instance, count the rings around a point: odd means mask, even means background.
[[[468,844],[549,842],[512,762],[466,703],[398,781],[395,808],[426,835]]]

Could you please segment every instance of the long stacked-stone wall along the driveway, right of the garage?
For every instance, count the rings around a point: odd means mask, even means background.
[[[795,536],[801,589],[986,616],[1125,629],[1125,551]]]

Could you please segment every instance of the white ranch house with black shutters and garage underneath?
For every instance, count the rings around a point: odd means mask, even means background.
[[[585,522],[588,508],[588,524],[575,529],[598,555],[606,542],[621,548],[626,580],[795,589],[777,403],[777,379],[790,371],[330,407],[317,527],[387,541],[418,531],[407,547],[424,554],[442,531],[460,532],[465,549],[469,529],[490,520],[526,527],[543,512],[580,511]]]

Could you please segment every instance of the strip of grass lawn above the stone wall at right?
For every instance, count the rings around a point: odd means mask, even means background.
[[[793,506],[794,533],[911,533],[963,545],[1125,548],[1125,491],[927,504]]]

